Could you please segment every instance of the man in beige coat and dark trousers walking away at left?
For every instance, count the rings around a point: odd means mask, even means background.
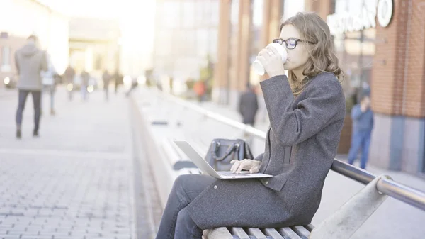
[[[15,53],[15,65],[19,74],[18,110],[16,111],[16,138],[21,138],[22,114],[28,94],[33,96],[34,130],[33,136],[38,137],[41,114],[41,71],[47,70],[47,60],[44,51],[38,47],[38,38],[30,35],[27,44]]]

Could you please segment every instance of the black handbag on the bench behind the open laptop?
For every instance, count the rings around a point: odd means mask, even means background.
[[[254,159],[249,145],[241,139],[216,138],[212,140],[205,160],[217,171],[229,171],[230,161]]]

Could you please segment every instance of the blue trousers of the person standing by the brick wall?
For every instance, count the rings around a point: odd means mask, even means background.
[[[366,163],[368,162],[369,156],[369,145],[370,145],[370,136],[372,135],[371,131],[358,131],[353,132],[353,137],[351,137],[351,148],[348,152],[348,163],[353,164],[356,160],[358,150],[361,149],[361,161],[360,167],[362,169],[366,168]]]

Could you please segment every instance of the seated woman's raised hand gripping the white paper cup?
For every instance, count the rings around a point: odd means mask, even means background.
[[[272,45],[261,50],[256,58],[261,62],[269,77],[285,74],[282,56]]]

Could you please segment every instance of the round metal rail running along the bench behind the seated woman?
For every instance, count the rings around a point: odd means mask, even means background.
[[[230,118],[226,118],[225,116],[220,116],[218,113],[213,113],[211,111],[205,110],[196,104],[180,99],[176,96],[172,96],[170,94],[166,94],[161,92],[162,96],[174,103],[180,104],[181,106],[187,107],[193,111],[196,111],[208,118],[212,118],[215,121],[219,121],[228,126],[232,126],[234,128],[238,128],[240,130],[244,130],[244,132],[249,133],[250,135],[254,135],[256,138],[261,138],[263,140],[266,139],[266,133],[262,130],[256,129],[251,126],[247,126],[244,123],[240,123],[234,121]],[[376,175],[371,174],[370,172],[360,169],[358,167],[354,167],[353,165],[349,165],[346,162],[342,162],[341,160],[334,159],[334,162],[331,166],[331,170],[334,172],[338,172],[346,177],[349,177],[357,182],[361,182],[362,184],[368,184],[373,179],[375,179]],[[398,199],[399,201],[403,201],[409,205],[412,205],[418,209],[425,211],[425,192],[419,191],[417,189],[413,189],[404,184],[400,184],[395,182],[392,179],[382,178],[379,180],[377,184],[377,189],[382,194],[387,194],[394,199]]]

